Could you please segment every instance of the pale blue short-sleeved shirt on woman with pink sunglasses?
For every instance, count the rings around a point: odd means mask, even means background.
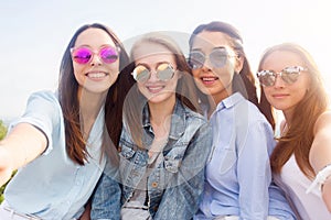
[[[25,122],[36,127],[46,135],[49,145],[42,155],[19,169],[9,183],[4,193],[8,205],[18,212],[46,220],[78,218],[106,163],[104,157],[100,161],[104,121],[102,109],[87,140],[90,157],[88,163],[81,166],[66,153],[64,121],[57,94],[32,94],[25,113],[12,125]]]

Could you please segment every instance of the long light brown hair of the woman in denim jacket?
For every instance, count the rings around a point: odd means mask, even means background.
[[[129,68],[130,72],[132,72],[135,68],[135,51],[140,46],[140,44],[143,43],[161,45],[169,50],[169,54],[172,54],[174,57],[177,70],[179,70],[181,74],[181,77],[178,79],[175,96],[191,110],[200,111],[196,97],[197,88],[193,81],[191,68],[188,65],[185,56],[179,45],[166,33],[148,33],[135,42],[130,53],[130,58],[132,62]],[[124,123],[127,125],[134,143],[140,148],[145,147],[142,145],[142,109],[147,105],[147,101],[148,100],[139,91],[136,85],[128,94],[124,106]]]

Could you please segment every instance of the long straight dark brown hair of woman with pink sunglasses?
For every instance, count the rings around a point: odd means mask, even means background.
[[[79,165],[84,165],[87,161],[87,152],[86,140],[84,140],[81,131],[79,100],[77,97],[78,82],[74,76],[71,48],[74,47],[78,35],[87,29],[104,30],[109,34],[115,45],[120,48],[119,70],[125,69],[129,62],[128,55],[116,34],[109,28],[99,23],[81,26],[73,35],[64,52],[60,67],[58,100],[64,117],[66,152],[70,158]],[[120,73],[116,82],[109,88],[106,97],[105,123],[108,134],[105,135],[110,136],[115,146],[118,146],[121,131],[122,101],[130,88],[130,84],[132,84],[130,76]],[[104,151],[107,152],[105,147],[105,144],[103,144]]]

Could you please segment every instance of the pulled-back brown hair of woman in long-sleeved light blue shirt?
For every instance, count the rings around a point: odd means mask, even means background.
[[[207,24],[201,24],[195,28],[193,33],[191,34],[189,45],[190,51],[192,50],[194,40],[197,34],[200,34],[203,31],[207,32],[221,32],[229,36],[232,47],[239,56],[243,56],[244,58],[244,65],[242,70],[238,74],[234,75],[233,81],[232,81],[232,88],[233,92],[241,92],[246,99],[258,106],[257,95],[256,95],[256,87],[255,87],[255,78],[250,70],[249,63],[246,58],[244,47],[243,47],[243,38],[234,26],[232,26],[228,23],[221,22],[221,21],[213,21]],[[199,92],[200,98],[206,102],[205,96]],[[206,102],[207,103],[207,102]]]

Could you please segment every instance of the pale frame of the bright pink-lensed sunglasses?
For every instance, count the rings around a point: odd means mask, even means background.
[[[90,52],[90,57],[89,57],[89,59],[88,59],[86,63],[79,63],[79,62],[77,62],[77,61],[75,59],[74,53],[75,53],[77,50],[79,50],[79,48],[84,48],[84,50],[87,50],[87,51]],[[107,59],[105,59],[105,58],[102,56],[102,54],[100,54],[100,53],[103,52],[103,50],[107,50],[107,48],[111,48],[114,52],[116,52],[116,54],[114,54],[114,56],[116,55],[116,58],[115,58],[114,61],[111,61],[111,62],[107,62]],[[97,51],[94,51],[94,50],[92,50],[92,48],[88,47],[88,46],[78,46],[78,47],[72,47],[72,48],[71,48],[71,56],[72,56],[72,59],[73,59],[76,64],[81,64],[81,65],[89,64],[89,63],[93,61],[93,58],[94,58],[95,55],[97,55],[98,58],[99,58],[100,61],[103,61],[103,63],[105,63],[105,64],[113,64],[113,63],[115,63],[115,62],[117,62],[117,61],[119,59],[119,53],[120,53],[120,47],[118,47],[118,46],[115,46],[115,47],[114,47],[114,46],[110,46],[110,45],[103,46],[103,47],[98,48]]]

